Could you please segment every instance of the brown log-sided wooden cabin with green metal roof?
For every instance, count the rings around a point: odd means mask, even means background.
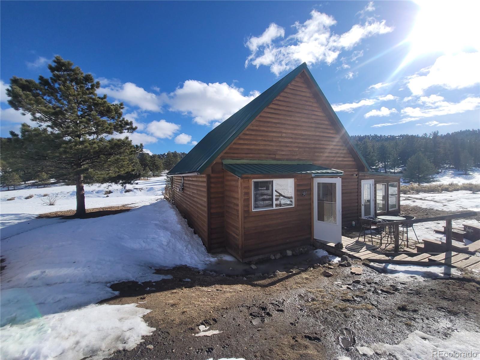
[[[360,216],[398,214],[400,178],[372,172],[305,63],[209,132],[168,172],[210,252],[241,261],[341,241]]]

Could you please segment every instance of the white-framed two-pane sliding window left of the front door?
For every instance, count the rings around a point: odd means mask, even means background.
[[[253,180],[252,210],[294,206],[293,179]]]

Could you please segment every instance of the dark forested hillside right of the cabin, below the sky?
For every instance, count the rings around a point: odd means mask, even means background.
[[[354,135],[351,138],[373,170],[402,172],[405,179],[416,182],[430,181],[441,168],[467,173],[480,165],[480,129],[446,134],[435,131],[422,135]]]

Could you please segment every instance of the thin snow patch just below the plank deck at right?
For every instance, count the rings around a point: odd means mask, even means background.
[[[425,279],[442,279],[451,275],[460,276],[460,272],[449,266],[420,266],[372,263],[370,266],[397,280],[423,281]]]

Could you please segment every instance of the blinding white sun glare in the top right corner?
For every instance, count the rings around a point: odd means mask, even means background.
[[[416,1],[420,6],[403,67],[422,54],[480,49],[480,1]]]

